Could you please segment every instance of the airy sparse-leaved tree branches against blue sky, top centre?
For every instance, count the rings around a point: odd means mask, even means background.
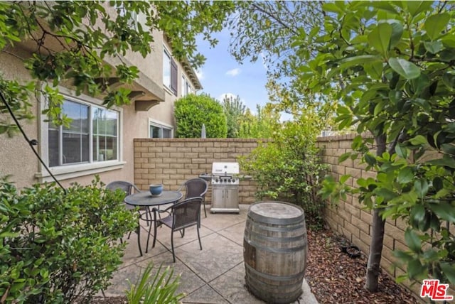
[[[316,37],[324,31],[323,14],[319,1],[242,1],[230,18],[230,53],[240,62],[262,60],[269,98],[280,111],[296,114],[309,101],[325,107],[296,81],[296,72],[321,45]]]

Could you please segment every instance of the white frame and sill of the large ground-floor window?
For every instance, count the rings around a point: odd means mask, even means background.
[[[65,99],[68,99],[72,102],[78,102],[80,104],[87,104],[89,106],[103,107],[102,101],[100,99],[95,99],[89,97],[85,94],[81,94],[78,97],[75,97],[74,92],[66,89],[64,87],[58,87],[61,94]],[[41,110],[45,109],[45,100],[41,97]],[[92,123],[90,123],[90,161],[88,163],[75,163],[75,164],[65,164],[60,166],[51,167],[50,172],[55,175],[58,180],[66,180],[70,178],[77,178],[85,175],[93,175],[97,173],[102,173],[110,170],[118,170],[124,167],[126,163],[123,161],[123,110],[119,107],[112,107],[110,110],[114,110],[118,113],[118,124],[117,124],[117,160],[112,161],[93,161],[92,159]],[[40,111],[41,112],[41,111]],[[90,120],[92,119],[92,111],[90,108]],[[41,158],[46,165],[49,164],[49,154],[48,154],[48,122],[46,115],[40,114],[40,152]],[[35,174],[35,177],[38,180],[43,182],[53,181],[53,178],[50,176],[44,166],[40,164],[40,172]]]

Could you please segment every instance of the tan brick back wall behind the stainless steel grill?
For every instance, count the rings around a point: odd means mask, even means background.
[[[134,139],[134,183],[141,190],[152,183],[177,190],[185,180],[211,173],[213,162],[238,161],[256,147],[256,139]],[[240,204],[255,202],[254,181],[241,180],[239,187]],[[209,188],[205,202],[211,201]]]

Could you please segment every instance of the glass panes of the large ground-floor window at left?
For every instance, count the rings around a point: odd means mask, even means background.
[[[50,167],[118,160],[118,112],[70,100],[63,102],[62,112],[71,122],[49,124]]]

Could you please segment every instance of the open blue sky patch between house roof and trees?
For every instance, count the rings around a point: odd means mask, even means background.
[[[256,112],[256,104],[264,105],[268,102],[267,71],[262,61],[250,63],[245,60],[243,64],[237,61],[229,53],[230,34],[227,30],[214,35],[219,40],[215,48],[198,40],[198,51],[207,60],[205,65],[198,71],[198,76],[203,89],[199,92],[210,94],[218,100],[223,100],[224,94],[239,95],[240,100],[252,112]]]

